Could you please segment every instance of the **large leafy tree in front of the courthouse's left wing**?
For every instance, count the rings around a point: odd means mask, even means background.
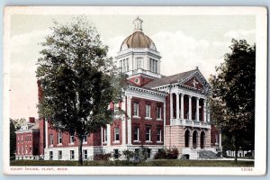
[[[76,135],[82,165],[84,137],[112,121],[108,105],[121,100],[125,81],[85,17],[54,24],[41,43],[36,76],[43,95],[38,109],[52,128]]]

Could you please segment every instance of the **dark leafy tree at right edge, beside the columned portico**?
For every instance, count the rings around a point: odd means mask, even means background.
[[[211,120],[233,140],[235,161],[238,148],[254,149],[256,45],[232,40],[231,52],[211,76]]]

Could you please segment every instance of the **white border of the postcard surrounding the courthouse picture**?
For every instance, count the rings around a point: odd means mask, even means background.
[[[121,11],[120,11],[121,9]],[[67,171],[14,171],[9,166],[9,86],[10,86],[10,15],[12,14],[129,14],[129,15],[256,15],[256,139],[255,166],[252,171],[242,167],[164,167],[164,166],[66,166]],[[265,175],[266,174],[266,40],[267,12],[264,7],[177,7],[177,6],[13,6],[4,9],[4,101],[3,159],[4,174],[13,175]],[[15,166],[13,166],[15,167]],[[49,166],[46,166],[49,167]],[[26,167],[23,166],[23,169]],[[41,169],[42,167],[39,166]]]

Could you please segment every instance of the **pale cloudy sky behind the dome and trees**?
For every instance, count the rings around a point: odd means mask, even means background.
[[[121,42],[134,29],[137,15],[86,15],[115,57]],[[231,40],[256,43],[253,15],[139,15],[143,32],[151,38],[161,55],[161,74],[174,75],[199,67],[208,79],[230,51]],[[36,117],[38,103],[37,59],[40,43],[49,34],[53,20],[68,23],[71,15],[12,15],[10,28],[10,117]]]

